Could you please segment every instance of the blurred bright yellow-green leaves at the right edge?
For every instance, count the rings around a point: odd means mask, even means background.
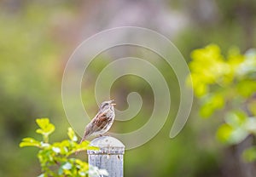
[[[218,139],[236,145],[249,134],[255,136],[256,50],[243,55],[232,48],[225,57],[217,45],[210,44],[195,49],[191,57],[190,84],[201,100],[201,116],[210,117],[223,109],[224,124],[218,128]],[[254,150],[247,150],[244,157],[256,160]]]

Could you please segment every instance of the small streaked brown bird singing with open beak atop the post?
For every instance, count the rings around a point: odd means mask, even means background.
[[[102,135],[108,132],[113,124],[115,117],[113,106],[116,105],[113,103],[114,100],[108,100],[102,102],[99,107],[99,111],[96,114],[90,123],[85,127],[84,137],[80,141],[82,143],[90,135]]]

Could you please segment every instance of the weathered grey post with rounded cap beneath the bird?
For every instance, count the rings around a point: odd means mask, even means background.
[[[119,140],[110,136],[101,136],[90,142],[90,146],[99,147],[99,150],[87,150],[89,169],[97,167],[106,169],[108,177],[124,176],[125,146]],[[102,175],[101,177],[105,177]]]

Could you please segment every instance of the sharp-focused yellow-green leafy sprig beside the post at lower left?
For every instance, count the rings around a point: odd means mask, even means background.
[[[69,140],[61,142],[49,143],[49,135],[55,131],[55,126],[49,123],[48,118],[37,119],[39,128],[36,130],[38,134],[42,134],[43,140],[35,140],[33,138],[24,138],[20,142],[20,147],[35,146],[38,151],[38,159],[41,165],[42,174],[40,177],[47,176],[98,176],[101,174],[108,175],[103,169],[91,168],[89,170],[88,163],[78,158],[72,157],[77,151],[86,151],[88,149],[96,149],[89,146],[89,141],[77,143],[78,137],[74,134],[72,128],[68,128],[67,135]],[[93,175],[92,175],[93,174]]]

